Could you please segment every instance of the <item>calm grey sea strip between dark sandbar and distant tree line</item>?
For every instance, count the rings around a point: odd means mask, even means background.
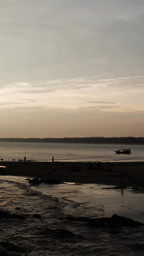
[[[131,147],[130,155],[115,150]],[[144,145],[0,142],[0,159],[36,161],[144,161]]]

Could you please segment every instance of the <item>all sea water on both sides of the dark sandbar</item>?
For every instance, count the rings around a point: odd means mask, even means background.
[[[131,155],[115,154],[129,147]],[[57,161],[144,161],[144,145],[0,143],[0,168],[5,160],[24,156],[34,161],[53,156]],[[117,233],[83,221],[113,214],[144,223],[144,190],[94,183],[33,185],[27,177],[1,175],[0,256],[144,256],[144,226],[120,227]]]

